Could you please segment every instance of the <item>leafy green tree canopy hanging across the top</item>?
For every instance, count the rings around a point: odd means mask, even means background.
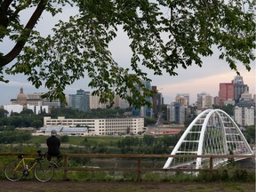
[[[35,26],[42,12],[54,17],[67,4],[79,13],[60,20],[52,35],[40,36]],[[5,74],[24,74],[36,88],[48,89],[44,97],[65,100],[65,87],[88,76],[100,101],[113,101],[116,93],[140,107],[155,93],[143,84],[150,81],[145,67],[157,76],[176,76],[177,68],[202,67],[202,57],[216,46],[237,74],[237,61],[250,71],[254,6],[254,0],[0,0],[0,43],[15,43],[6,54],[0,50],[0,81],[8,82]],[[20,12],[33,8],[22,25]],[[109,49],[118,28],[131,40],[130,68],[117,63]]]

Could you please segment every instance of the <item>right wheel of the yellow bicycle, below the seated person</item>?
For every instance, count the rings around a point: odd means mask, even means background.
[[[48,161],[42,161],[36,164],[34,173],[36,180],[47,182],[48,180],[52,179],[54,168]]]

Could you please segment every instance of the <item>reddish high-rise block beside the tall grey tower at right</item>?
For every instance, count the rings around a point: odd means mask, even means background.
[[[233,83],[220,83],[219,100],[220,106],[224,106],[225,100],[234,100],[234,84]]]

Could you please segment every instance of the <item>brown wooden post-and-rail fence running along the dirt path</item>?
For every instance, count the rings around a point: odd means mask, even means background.
[[[0,153],[0,156],[19,156],[18,153]],[[37,156],[37,154],[22,154],[24,156]],[[63,180],[68,180],[68,171],[93,171],[93,172],[113,172],[113,171],[120,171],[120,172],[137,172],[137,180],[141,181],[141,173],[142,172],[216,172],[220,171],[220,169],[213,168],[213,160],[214,158],[234,158],[234,159],[241,159],[241,158],[248,158],[248,159],[254,159],[255,163],[255,156],[248,156],[248,155],[202,155],[202,156],[196,156],[196,155],[149,155],[149,154],[62,154],[61,155],[64,158],[64,165],[60,168],[60,170],[63,171]],[[87,158],[136,158],[137,159],[137,165],[133,168],[93,168],[93,167],[70,167],[68,166],[68,157],[87,157]],[[141,166],[141,159],[144,158],[165,158],[168,157],[190,157],[190,158],[196,158],[196,157],[202,157],[203,159],[207,158],[209,159],[209,167],[204,167],[200,169],[192,168],[173,168],[173,169],[163,169],[163,168],[143,168]],[[222,169],[223,170],[223,169]],[[243,169],[243,168],[230,168],[228,171],[234,172],[234,171],[246,171],[246,172],[255,172],[254,169]]]

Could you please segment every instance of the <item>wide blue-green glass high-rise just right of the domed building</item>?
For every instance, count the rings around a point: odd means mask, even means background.
[[[90,92],[84,92],[84,90],[80,89],[76,91],[76,94],[69,94],[69,105],[71,108],[89,111]]]

